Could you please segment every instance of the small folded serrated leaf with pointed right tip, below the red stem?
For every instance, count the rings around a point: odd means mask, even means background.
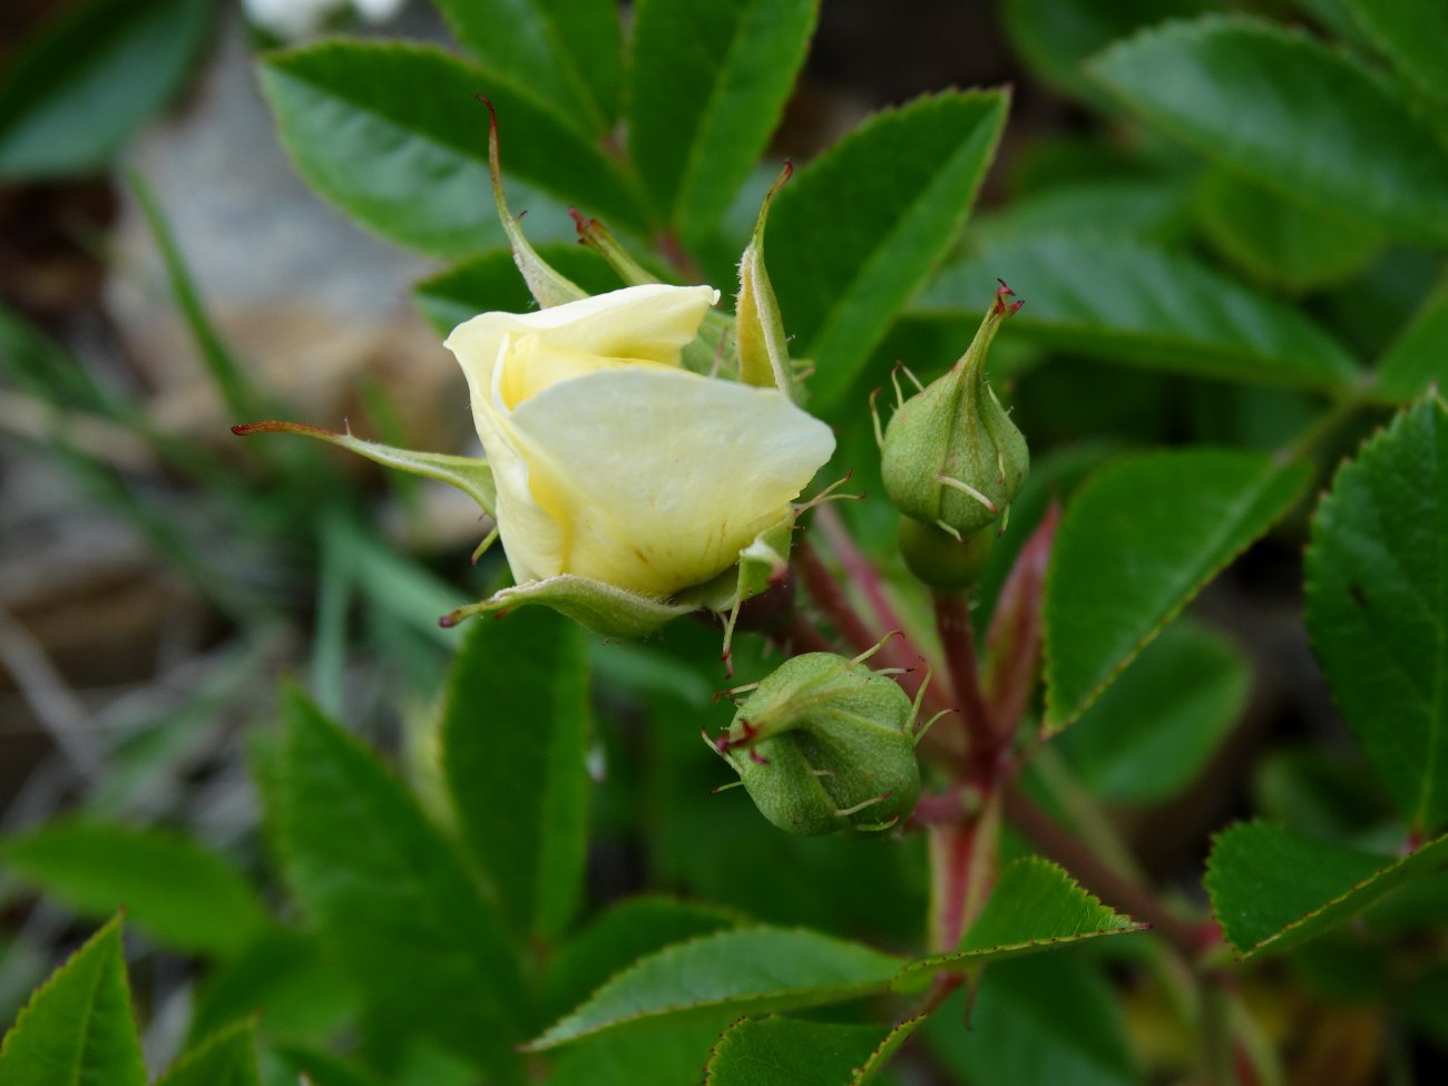
[[[912,961],[901,970],[899,982],[908,986],[921,973],[943,967],[973,967],[1147,927],[1102,905],[1058,864],[1022,856],[1001,872],[976,922],[960,938],[960,948]]]

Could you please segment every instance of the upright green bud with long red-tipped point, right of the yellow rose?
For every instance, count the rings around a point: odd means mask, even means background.
[[[961,539],[1002,517],[1021,492],[1031,456],[986,382],[986,352],[1021,303],[1001,290],[954,368],[899,404],[883,434],[885,492],[912,520]],[[896,385],[898,392],[898,385]]]

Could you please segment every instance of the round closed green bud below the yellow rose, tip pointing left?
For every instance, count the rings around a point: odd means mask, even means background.
[[[863,660],[786,660],[711,741],[760,814],[786,833],[885,830],[915,807],[918,701]]]

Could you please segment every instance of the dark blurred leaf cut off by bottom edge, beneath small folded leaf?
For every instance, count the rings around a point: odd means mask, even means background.
[[[951,998],[931,1015],[924,1038],[940,1063],[966,1082],[1142,1082],[1119,995],[1086,956],[1048,954],[990,966],[969,1014],[964,993]]]

